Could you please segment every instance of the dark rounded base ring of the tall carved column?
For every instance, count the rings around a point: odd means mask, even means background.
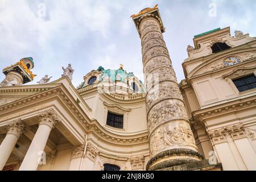
[[[146,166],[147,171],[180,166],[187,163],[200,162],[204,156],[199,152],[187,148],[175,148],[160,152],[151,158]]]

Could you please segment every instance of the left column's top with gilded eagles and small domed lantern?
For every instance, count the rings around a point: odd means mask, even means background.
[[[1,86],[16,86],[23,85],[34,80],[36,75],[33,75],[31,69],[34,68],[32,57],[25,57],[19,62],[3,69],[5,79],[1,82]]]

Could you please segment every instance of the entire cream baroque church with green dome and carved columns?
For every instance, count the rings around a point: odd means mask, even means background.
[[[256,170],[256,38],[195,35],[177,82],[158,6],[131,18],[144,80],[99,67],[38,84],[32,57],[3,69],[0,170]],[[24,85],[26,84],[26,85]]]

